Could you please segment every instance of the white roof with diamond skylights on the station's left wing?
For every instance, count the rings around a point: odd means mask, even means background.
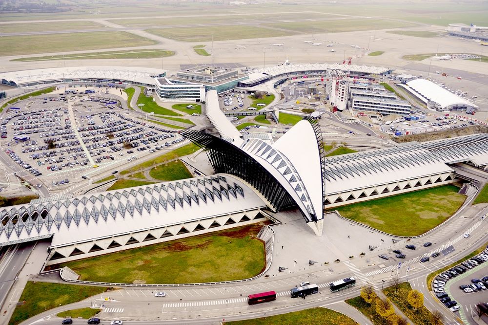
[[[264,207],[240,180],[216,174],[0,209],[0,243],[54,235],[53,246]]]

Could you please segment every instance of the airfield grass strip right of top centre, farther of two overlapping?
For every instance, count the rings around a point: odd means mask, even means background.
[[[411,27],[408,22],[389,21],[382,19],[344,19],[334,21],[309,21],[309,22],[276,22],[265,23],[263,26],[289,29],[296,32],[312,33],[339,33],[356,30],[375,30],[387,28]]]

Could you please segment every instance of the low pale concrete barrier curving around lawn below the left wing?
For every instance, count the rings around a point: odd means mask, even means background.
[[[264,268],[264,271],[261,272],[260,274],[244,279],[244,280],[233,280],[233,281],[222,281],[222,282],[201,282],[201,283],[171,283],[171,284],[140,284],[140,283],[113,283],[113,282],[97,282],[97,281],[82,281],[82,280],[70,280],[67,279],[66,277],[63,276],[64,270],[59,269],[59,270],[53,270],[54,271],[59,271],[61,279],[65,282],[71,282],[71,283],[80,283],[80,284],[86,284],[86,285],[102,285],[102,286],[111,286],[111,287],[180,287],[180,286],[202,286],[202,285],[215,285],[215,284],[230,284],[230,283],[240,283],[240,282],[248,282],[252,281],[255,279],[260,278],[263,276],[264,273],[266,273],[269,270],[269,267],[271,266],[271,262],[273,260],[273,247],[274,247],[274,237],[275,237],[275,232],[271,226],[264,226],[260,232],[258,233],[258,238],[259,236],[262,236],[263,238],[260,238],[261,240],[264,241],[264,247],[266,248],[266,267]],[[51,271],[47,271],[52,273]],[[43,273],[47,274],[47,273]]]

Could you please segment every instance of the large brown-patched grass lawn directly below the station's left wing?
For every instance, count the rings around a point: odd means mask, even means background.
[[[176,239],[62,263],[81,280],[122,283],[194,283],[239,280],[265,267],[263,224]],[[117,265],[117,267],[112,267]],[[57,267],[57,266],[56,266]],[[53,266],[53,268],[55,268]]]

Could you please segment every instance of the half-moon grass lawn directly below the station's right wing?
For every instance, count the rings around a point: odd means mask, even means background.
[[[452,216],[466,200],[454,185],[409,192],[334,208],[346,218],[388,234],[421,235]]]

